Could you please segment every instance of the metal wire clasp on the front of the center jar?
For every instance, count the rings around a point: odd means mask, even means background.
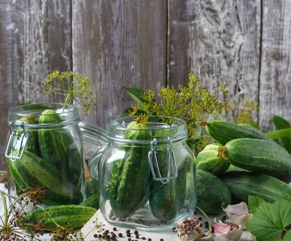
[[[160,169],[159,169],[159,164],[157,160],[157,151],[154,150],[154,145],[157,145],[158,142],[164,142],[166,141],[170,146],[167,148],[167,154],[168,154],[168,175],[167,177],[162,177]],[[171,177],[171,157],[174,162],[174,170],[175,170],[175,175]],[[157,140],[156,138],[153,139],[153,141],[150,143],[150,151],[148,152],[148,161],[150,165],[151,172],[153,174],[153,177],[156,181],[161,181],[163,184],[167,184],[170,179],[174,179],[178,177],[178,171],[177,171],[177,166],[176,166],[176,160],[175,160],[175,155],[172,150],[172,141],[170,137],[166,137],[163,140]],[[158,177],[156,177],[154,166],[157,169],[157,174]]]

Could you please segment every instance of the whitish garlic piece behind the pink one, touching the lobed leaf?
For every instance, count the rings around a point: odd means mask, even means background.
[[[242,225],[242,229],[246,229],[245,223],[253,217],[253,214],[249,213],[246,203],[241,202],[236,205],[228,205],[226,209],[223,209],[227,216],[230,219],[227,219],[226,222]]]

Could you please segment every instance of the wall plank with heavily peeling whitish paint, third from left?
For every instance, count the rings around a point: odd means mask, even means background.
[[[258,101],[260,0],[170,0],[168,83],[193,72],[222,100]]]

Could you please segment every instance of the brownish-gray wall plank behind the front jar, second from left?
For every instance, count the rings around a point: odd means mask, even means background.
[[[122,85],[165,85],[166,26],[165,0],[73,1],[73,69],[98,95],[96,112],[82,121],[106,128],[133,103]]]

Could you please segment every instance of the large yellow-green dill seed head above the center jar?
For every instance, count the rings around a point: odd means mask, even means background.
[[[138,111],[144,111],[147,114],[158,115],[163,122],[170,125],[173,124],[174,118],[191,119],[194,122],[202,119],[203,114],[212,113],[214,111],[221,113],[222,104],[218,102],[214,94],[222,92],[228,93],[226,86],[220,84],[220,89],[210,94],[210,92],[199,83],[196,75],[189,74],[188,87],[179,85],[179,91],[169,85],[159,90],[161,101],[155,98],[155,92],[146,90],[142,93],[145,102],[143,105],[135,104],[131,108],[133,111],[129,115],[134,115]]]

